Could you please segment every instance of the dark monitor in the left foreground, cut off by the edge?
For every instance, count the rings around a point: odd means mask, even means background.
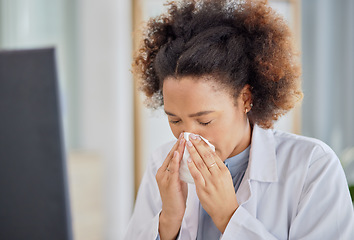
[[[72,239],[54,49],[0,51],[0,239]]]

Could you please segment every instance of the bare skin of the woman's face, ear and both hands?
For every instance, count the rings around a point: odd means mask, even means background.
[[[186,209],[188,188],[178,174],[185,146],[191,155],[188,168],[200,203],[223,233],[239,206],[231,174],[223,161],[251,143],[252,129],[247,118],[252,102],[250,88],[246,85],[235,102],[211,76],[168,77],[163,96],[170,128],[178,141],[156,174],[162,199],[160,238],[177,237]],[[183,132],[205,137],[215,146],[215,152],[195,135],[186,142]]]

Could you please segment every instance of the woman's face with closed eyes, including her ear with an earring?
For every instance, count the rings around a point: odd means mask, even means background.
[[[221,160],[235,156],[251,141],[245,109],[250,109],[248,86],[238,99],[212,77],[168,77],[163,85],[164,109],[173,135],[191,132],[208,139]]]

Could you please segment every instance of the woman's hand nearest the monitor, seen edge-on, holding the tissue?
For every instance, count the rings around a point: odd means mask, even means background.
[[[185,140],[179,137],[156,174],[162,200],[159,218],[161,239],[175,239],[186,210],[188,187],[179,179],[179,166],[185,148]]]

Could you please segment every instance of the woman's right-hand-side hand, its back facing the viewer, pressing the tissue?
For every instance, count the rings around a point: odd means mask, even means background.
[[[200,137],[190,136],[187,148],[191,155],[188,168],[194,179],[199,201],[215,226],[224,233],[239,206],[230,171]]]

